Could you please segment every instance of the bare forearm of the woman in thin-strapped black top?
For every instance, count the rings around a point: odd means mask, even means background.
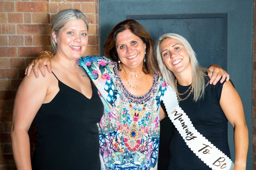
[[[12,130],[12,153],[17,170],[32,170],[28,132]]]

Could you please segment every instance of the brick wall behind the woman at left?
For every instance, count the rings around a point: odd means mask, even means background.
[[[16,169],[10,127],[16,91],[26,66],[40,51],[50,51],[50,24],[62,9],[80,9],[89,21],[89,45],[84,55],[99,55],[99,0],[0,1],[0,170]],[[31,153],[36,132],[29,129]]]

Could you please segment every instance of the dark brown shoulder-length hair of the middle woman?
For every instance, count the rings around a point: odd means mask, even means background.
[[[140,37],[143,43],[146,43],[146,62],[143,64],[143,72],[145,74],[159,72],[157,59],[154,56],[154,40],[148,34],[146,29],[135,20],[124,20],[118,23],[108,34],[107,40],[105,41],[104,56],[111,59],[112,61],[118,61],[118,55],[116,51],[116,37],[118,33],[125,30],[130,30],[134,35]]]

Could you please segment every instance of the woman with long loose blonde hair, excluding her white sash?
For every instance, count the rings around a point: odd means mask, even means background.
[[[232,82],[209,84],[208,69],[199,65],[189,42],[180,35],[160,36],[155,44],[155,55],[163,79],[175,89],[179,106],[195,129],[229,158],[227,121],[230,122],[234,129],[236,153],[233,169],[245,170],[248,129],[241,99]],[[161,104],[164,106],[163,102]],[[192,138],[191,135],[189,139],[192,141]],[[175,127],[169,145],[168,169],[211,169],[190,150]]]

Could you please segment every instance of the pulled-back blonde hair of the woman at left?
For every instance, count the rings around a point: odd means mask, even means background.
[[[51,45],[53,47],[54,53],[56,53],[56,43],[53,40],[53,31],[55,31],[56,35],[59,35],[60,29],[70,20],[73,19],[82,19],[86,23],[87,30],[89,28],[88,20],[86,16],[78,9],[63,9],[59,11],[56,16],[53,18],[52,21],[52,28],[51,28]]]

